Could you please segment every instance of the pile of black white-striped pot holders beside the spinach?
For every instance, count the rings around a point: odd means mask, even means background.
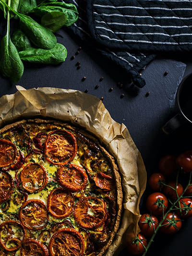
[[[73,33],[114,61],[143,87],[140,70],[156,54],[192,49],[191,0],[68,0],[79,19]]]

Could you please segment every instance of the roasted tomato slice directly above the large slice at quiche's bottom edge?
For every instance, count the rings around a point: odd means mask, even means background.
[[[48,211],[58,219],[69,216],[73,209],[72,194],[62,188],[54,189],[48,196]]]

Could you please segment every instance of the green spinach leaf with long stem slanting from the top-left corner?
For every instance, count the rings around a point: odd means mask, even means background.
[[[14,11],[4,2],[4,0],[0,0],[0,2],[19,17],[21,30],[33,44],[43,49],[51,49],[56,45],[57,38],[47,27],[38,24],[27,15]]]

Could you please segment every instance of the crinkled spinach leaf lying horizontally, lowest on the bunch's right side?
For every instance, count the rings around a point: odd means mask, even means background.
[[[56,46],[50,50],[30,48],[19,52],[22,61],[29,61],[33,63],[43,64],[58,64],[65,61],[67,57],[67,49],[57,43]]]

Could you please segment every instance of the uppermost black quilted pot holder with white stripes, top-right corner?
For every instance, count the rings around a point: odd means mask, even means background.
[[[89,27],[116,49],[192,50],[191,0],[89,0]]]

